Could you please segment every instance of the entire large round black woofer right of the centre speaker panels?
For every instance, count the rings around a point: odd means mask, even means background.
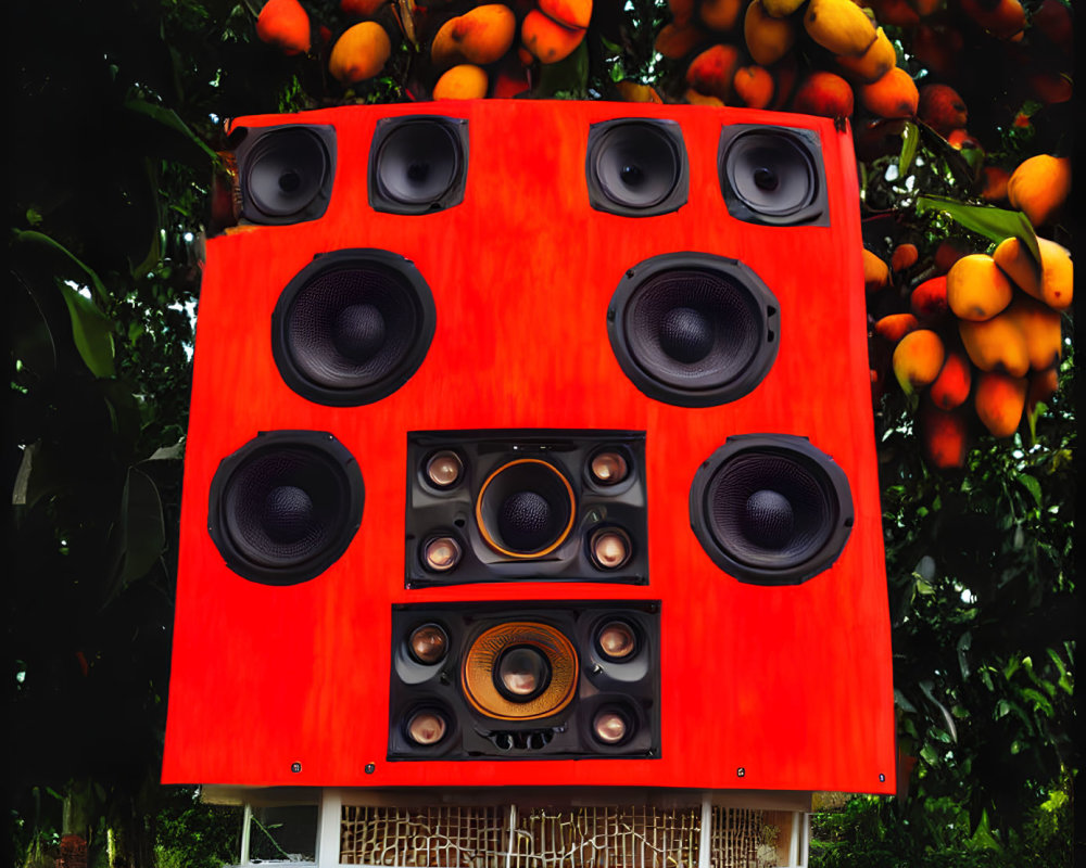
[[[844,471],[806,437],[729,437],[698,468],[690,521],[721,570],[756,585],[797,585],[829,569],[853,528]]]

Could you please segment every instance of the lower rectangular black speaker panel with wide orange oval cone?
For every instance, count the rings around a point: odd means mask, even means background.
[[[447,650],[424,663],[417,637],[438,630]],[[658,757],[659,649],[652,600],[395,605],[389,760]]]

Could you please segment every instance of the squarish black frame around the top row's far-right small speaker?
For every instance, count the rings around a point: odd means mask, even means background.
[[[728,155],[744,138],[756,135],[779,136],[805,157],[811,170],[815,188],[805,204],[786,213],[770,214],[753,207],[735,190],[732,176],[728,170]],[[763,226],[830,225],[825,169],[822,165],[822,143],[815,130],[801,127],[774,127],[765,124],[724,125],[720,130],[720,144],[717,149],[717,178],[728,213],[736,220]]]

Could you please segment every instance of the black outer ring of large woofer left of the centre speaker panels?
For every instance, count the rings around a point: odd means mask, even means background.
[[[339,471],[341,494],[348,511],[340,521],[332,541],[313,556],[289,567],[275,567],[256,563],[248,556],[230,531],[230,516],[225,514],[225,498],[241,471],[249,462],[264,454],[286,448],[302,449],[318,455],[326,465]],[[299,585],[316,578],[328,570],[346,551],[362,525],[365,503],[365,485],[362,470],[354,456],[336,437],[326,431],[262,431],[237,451],[224,458],[212,477],[207,498],[207,533],[227,567],[242,578],[261,585]]]

